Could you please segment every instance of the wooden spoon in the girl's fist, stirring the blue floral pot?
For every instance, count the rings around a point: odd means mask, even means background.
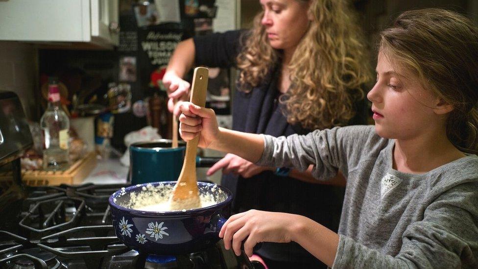
[[[191,102],[198,106],[206,104],[206,90],[208,87],[208,69],[196,67],[192,77]],[[199,136],[186,143],[186,156],[183,169],[169,198],[171,210],[188,210],[200,208],[199,189],[196,180],[196,151]]]

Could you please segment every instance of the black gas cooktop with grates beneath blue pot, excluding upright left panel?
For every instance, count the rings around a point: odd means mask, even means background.
[[[27,196],[11,203],[0,216],[0,266],[254,268],[245,255],[237,257],[225,250],[221,241],[203,251],[178,256],[140,254],[120,244],[110,224],[107,199],[121,187],[125,185],[60,185],[17,190]]]

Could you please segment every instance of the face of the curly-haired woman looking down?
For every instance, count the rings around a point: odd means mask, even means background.
[[[309,27],[309,3],[299,0],[260,0],[261,23],[274,49],[295,49]]]

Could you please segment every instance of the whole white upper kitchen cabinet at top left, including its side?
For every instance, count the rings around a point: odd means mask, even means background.
[[[118,0],[0,0],[0,40],[119,43]]]

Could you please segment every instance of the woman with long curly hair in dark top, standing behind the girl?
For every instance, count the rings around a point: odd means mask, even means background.
[[[230,31],[181,42],[163,79],[173,99],[186,99],[181,77],[193,64],[240,70],[233,129],[272,136],[365,123],[361,86],[368,81],[359,30],[345,0],[261,0],[263,12],[250,31]],[[235,195],[233,211],[300,214],[337,230],[343,189],[316,184],[309,171],[259,167],[228,154],[222,185]],[[343,184],[337,176],[330,184]],[[320,263],[295,243],[264,243],[258,250],[271,267],[310,268]]]

